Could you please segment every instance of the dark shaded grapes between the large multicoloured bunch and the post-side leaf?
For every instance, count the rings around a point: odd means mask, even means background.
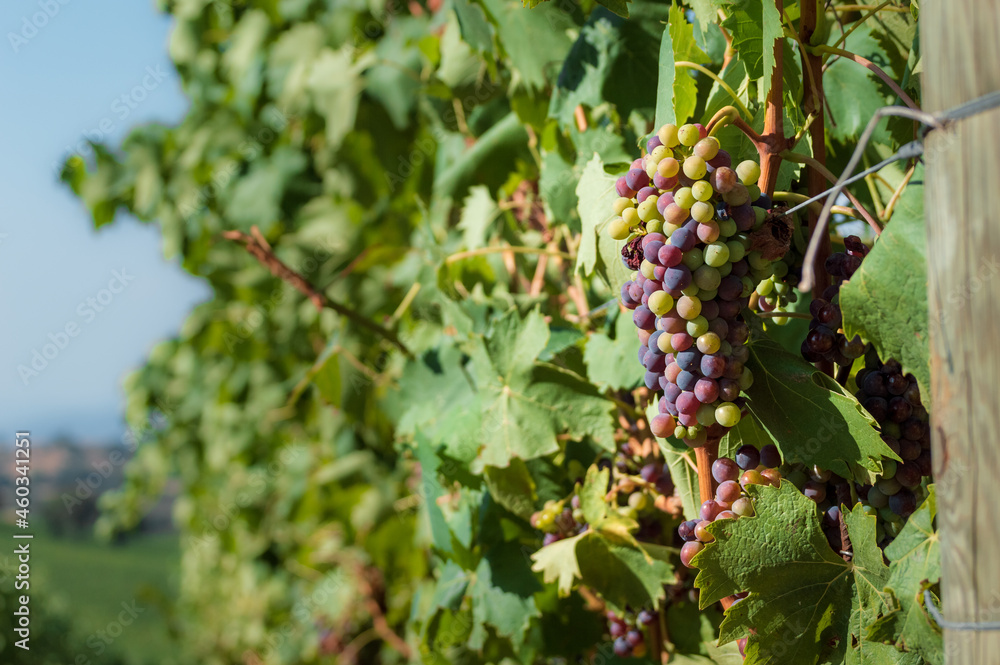
[[[823,292],[822,298],[809,303],[809,333],[802,341],[802,357],[811,363],[828,361],[838,365],[850,365],[865,352],[865,343],[855,335],[848,339],[841,329],[842,317],[838,304],[840,287],[861,267],[861,260],[868,254],[857,236],[844,238],[846,252],[831,254],[826,259],[826,271],[832,283]]]

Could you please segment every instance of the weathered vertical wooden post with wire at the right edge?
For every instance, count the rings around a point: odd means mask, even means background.
[[[1000,90],[993,0],[921,3],[924,110]],[[931,426],[943,614],[1000,620],[1000,109],[925,146]],[[947,665],[1000,657],[1000,632],[945,631]]]

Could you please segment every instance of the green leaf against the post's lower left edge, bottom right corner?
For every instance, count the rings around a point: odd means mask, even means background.
[[[943,662],[941,631],[924,609],[923,592],[941,578],[941,553],[934,519],[937,499],[934,486],[923,505],[886,550],[890,560],[886,591],[892,597],[889,611],[872,626],[868,639],[890,642],[925,660]]]

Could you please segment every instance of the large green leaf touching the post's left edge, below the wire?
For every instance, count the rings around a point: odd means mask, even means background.
[[[924,234],[923,167],[896,204],[885,231],[861,268],[840,290],[844,330],[870,341],[882,359],[895,358],[912,372],[930,408],[927,318],[927,239]]]

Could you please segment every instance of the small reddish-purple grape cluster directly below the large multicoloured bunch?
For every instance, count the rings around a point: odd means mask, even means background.
[[[735,459],[720,457],[712,463],[712,477],[718,487],[715,498],[701,504],[697,520],[682,522],[677,534],[684,541],[681,546],[681,563],[692,568],[691,559],[715,538],[708,532],[708,525],[715,520],[751,517],[753,502],[745,495],[748,485],[781,485],[781,454],[773,445],[760,450],[749,444],[740,446]]]

